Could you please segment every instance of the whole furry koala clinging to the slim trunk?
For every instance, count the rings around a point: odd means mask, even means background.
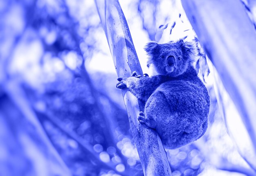
[[[132,73],[118,78],[116,87],[128,90],[144,102],[138,120],[159,134],[166,149],[176,149],[200,138],[208,125],[210,97],[193,67],[197,50],[193,42],[158,44],[144,48],[159,75]],[[145,75],[145,74],[144,74]]]

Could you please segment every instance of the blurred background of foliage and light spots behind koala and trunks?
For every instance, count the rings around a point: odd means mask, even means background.
[[[144,73],[152,72],[143,50],[150,40],[197,40],[179,1],[119,2]],[[0,0],[0,46],[1,176],[143,175],[93,0]],[[191,145],[166,151],[173,176],[256,175],[227,134],[198,47],[209,127]]]

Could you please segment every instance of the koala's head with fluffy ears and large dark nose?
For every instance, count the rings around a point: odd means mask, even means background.
[[[197,55],[194,42],[182,39],[164,44],[149,42],[144,49],[150,56],[148,67],[153,64],[159,74],[172,77],[183,74]]]

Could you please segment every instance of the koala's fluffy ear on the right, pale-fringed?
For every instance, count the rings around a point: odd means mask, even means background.
[[[191,60],[195,60],[195,57],[198,55],[198,50],[194,41],[184,42],[181,40],[182,52],[183,55]]]

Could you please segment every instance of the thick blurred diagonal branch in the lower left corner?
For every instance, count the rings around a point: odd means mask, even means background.
[[[31,106],[27,101],[25,92],[20,88],[19,83],[16,80],[5,82],[4,90],[13,104],[16,105],[20,113],[24,116],[24,118],[20,117],[20,120],[27,124],[26,127],[22,127],[23,138],[29,139],[31,136],[31,134],[29,134],[29,129],[27,129],[28,126],[34,129],[33,135],[36,136],[37,140],[31,138],[30,140],[27,140],[29,143],[23,143],[22,145],[26,149],[25,151],[27,158],[29,158],[34,165],[41,166],[33,168],[35,173],[41,173],[42,170],[40,168],[42,167],[49,167],[49,171],[45,171],[46,174],[49,172],[53,175],[60,174],[63,176],[69,176],[71,174],[70,170],[67,168],[62,158],[59,156],[58,152],[47,137],[43,127],[36,118],[36,114],[31,109]],[[20,139],[20,141],[22,140]],[[40,144],[40,147],[38,147],[38,144]],[[33,150],[33,147],[35,150]],[[36,157],[31,157],[35,154],[37,154]],[[51,160],[49,160],[49,158],[51,158]],[[54,164],[54,168],[50,166],[51,164]]]

